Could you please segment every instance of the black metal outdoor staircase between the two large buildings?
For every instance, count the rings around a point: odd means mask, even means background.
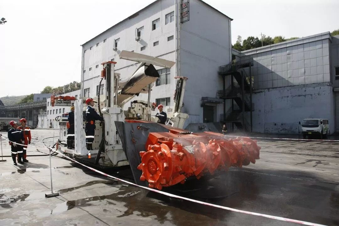
[[[220,115],[220,122],[231,123],[233,131],[234,126],[240,130],[252,131],[252,66],[253,58],[245,56],[219,67],[219,75],[223,78],[224,87],[216,94],[217,98],[224,100],[224,114]],[[249,73],[246,73],[244,69],[246,67],[249,67]],[[226,81],[231,81],[231,85],[227,88],[225,88]],[[228,111],[226,111],[226,100],[231,100],[231,108]],[[245,112],[250,112],[249,119]]]

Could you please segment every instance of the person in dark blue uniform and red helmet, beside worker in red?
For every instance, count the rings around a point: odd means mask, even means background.
[[[25,143],[25,138],[23,137],[23,132],[21,129],[18,129],[18,125],[15,121],[9,122],[9,125],[12,126],[12,129],[8,130],[8,140],[9,145],[11,145],[12,159],[14,165],[17,165],[16,156],[18,155],[18,163],[22,164],[21,161],[23,155],[23,146],[20,144]]]

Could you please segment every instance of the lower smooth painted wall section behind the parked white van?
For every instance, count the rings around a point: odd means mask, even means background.
[[[335,132],[332,86],[326,83],[258,89],[253,93],[253,131],[300,133],[306,118],[324,118]]]

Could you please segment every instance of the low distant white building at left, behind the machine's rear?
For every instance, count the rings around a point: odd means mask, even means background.
[[[80,89],[69,92],[66,94],[62,94],[61,96],[75,96],[77,99],[80,97]],[[67,113],[71,111],[70,106],[52,106],[51,98],[47,98],[47,108],[46,115],[39,115],[38,126],[44,126],[41,128],[59,128],[59,122],[56,121],[58,116],[61,116],[63,113]],[[43,120],[43,122],[41,121]]]

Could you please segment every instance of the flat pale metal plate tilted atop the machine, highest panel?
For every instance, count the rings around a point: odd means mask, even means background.
[[[158,57],[151,57],[148,55],[140,54],[140,53],[134,53],[126,50],[122,50],[119,54],[120,59],[125,60],[132,60],[136,62],[145,63],[146,65],[153,64],[160,67],[167,67],[171,68],[175,64],[175,62],[170,60],[164,60]]]

